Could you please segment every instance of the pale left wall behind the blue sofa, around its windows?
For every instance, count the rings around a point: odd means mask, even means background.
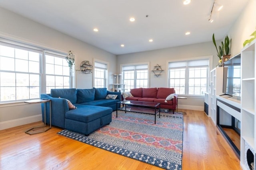
[[[82,61],[93,59],[110,62],[109,76],[116,73],[116,55],[74,39],[40,23],[0,8],[0,37],[32,43],[56,51],[74,51],[75,69],[80,70]],[[92,88],[93,74],[75,71],[75,88]],[[110,79],[110,84],[113,83]],[[18,105],[18,106],[17,106]],[[0,130],[42,120],[40,104],[0,104]]]

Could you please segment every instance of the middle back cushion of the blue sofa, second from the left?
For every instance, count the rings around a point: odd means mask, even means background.
[[[77,89],[76,103],[84,103],[94,101],[95,89]]]

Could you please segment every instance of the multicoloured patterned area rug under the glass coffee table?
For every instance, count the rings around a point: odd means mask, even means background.
[[[164,169],[182,169],[183,115],[112,113],[112,122],[88,137],[63,130],[58,134]]]

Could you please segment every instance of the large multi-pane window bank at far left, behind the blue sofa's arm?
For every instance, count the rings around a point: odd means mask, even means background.
[[[56,54],[0,39],[0,102],[36,99],[51,88],[70,88],[70,68],[65,56]]]

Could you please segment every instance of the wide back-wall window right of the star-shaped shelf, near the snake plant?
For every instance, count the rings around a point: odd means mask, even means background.
[[[176,94],[204,95],[208,86],[209,59],[169,63],[169,87]]]

